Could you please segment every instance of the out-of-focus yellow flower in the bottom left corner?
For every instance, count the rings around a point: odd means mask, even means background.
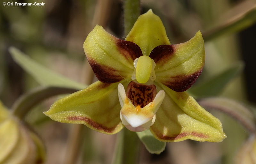
[[[0,102],[0,163],[39,164],[44,159],[40,138]]]

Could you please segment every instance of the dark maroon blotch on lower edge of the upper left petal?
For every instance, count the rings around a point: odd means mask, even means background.
[[[116,83],[124,79],[114,68],[101,65],[96,63],[94,60],[88,59],[88,62],[90,63],[96,77],[103,83]]]

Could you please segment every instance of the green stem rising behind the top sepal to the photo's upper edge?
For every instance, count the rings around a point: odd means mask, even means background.
[[[131,31],[140,16],[140,0],[124,0],[124,36]]]

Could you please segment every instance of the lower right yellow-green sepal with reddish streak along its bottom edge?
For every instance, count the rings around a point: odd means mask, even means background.
[[[186,92],[175,92],[163,84],[156,85],[166,93],[150,127],[160,141],[178,142],[185,139],[221,142],[226,138],[220,120],[202,108]]]

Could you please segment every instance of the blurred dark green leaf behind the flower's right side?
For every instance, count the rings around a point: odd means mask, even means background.
[[[188,92],[196,98],[216,96],[220,94],[228,82],[235,78],[243,70],[243,68],[244,63],[239,62],[219,75],[212,77],[198,85],[192,86],[189,88]]]

